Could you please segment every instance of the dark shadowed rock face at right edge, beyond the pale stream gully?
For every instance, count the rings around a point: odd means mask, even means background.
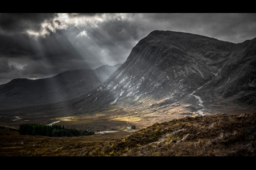
[[[256,39],[234,44],[232,53],[222,62],[218,74],[195,94],[205,104],[255,105]]]

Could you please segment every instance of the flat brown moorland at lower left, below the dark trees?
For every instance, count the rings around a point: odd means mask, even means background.
[[[0,156],[80,156],[92,146],[102,146],[131,134],[96,133],[77,137],[19,135],[18,130],[0,126]]]

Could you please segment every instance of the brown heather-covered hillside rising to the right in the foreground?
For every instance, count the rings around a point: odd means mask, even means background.
[[[84,156],[256,156],[256,114],[215,114],[154,124]]]

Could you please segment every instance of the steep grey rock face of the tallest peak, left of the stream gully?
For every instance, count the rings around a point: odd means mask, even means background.
[[[104,101],[109,103],[146,96],[174,103],[213,79],[234,45],[190,33],[153,31],[97,92],[108,92]]]

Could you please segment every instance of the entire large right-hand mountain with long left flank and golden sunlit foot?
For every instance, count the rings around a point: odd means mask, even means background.
[[[128,125],[141,129],[183,117],[254,113],[255,109],[256,39],[236,44],[156,30],[88,94],[18,112],[71,117],[81,128],[112,130]],[[15,111],[8,114],[18,116]]]

